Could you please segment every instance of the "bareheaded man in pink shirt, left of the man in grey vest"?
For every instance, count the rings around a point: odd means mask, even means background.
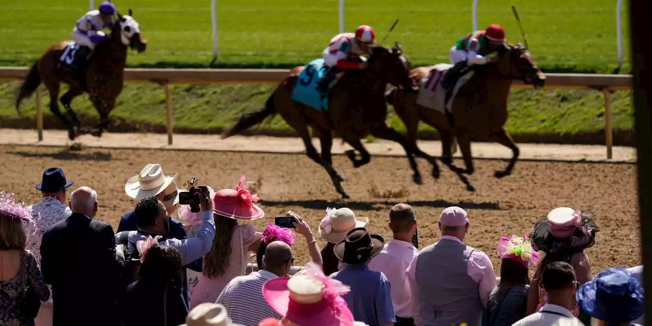
[[[378,256],[371,259],[369,269],[383,272],[391,284],[392,304],[396,315],[396,326],[413,326],[412,295],[406,269],[417,257],[419,250],[411,243],[417,228],[417,219],[410,205],[398,203],[389,211],[389,229],[393,239],[385,244]]]

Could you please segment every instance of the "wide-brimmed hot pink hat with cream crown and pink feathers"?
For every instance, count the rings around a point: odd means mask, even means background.
[[[325,276],[312,261],[306,264],[303,274],[274,278],[263,285],[267,303],[297,325],[353,325],[353,314],[342,298],[348,291],[348,286]]]

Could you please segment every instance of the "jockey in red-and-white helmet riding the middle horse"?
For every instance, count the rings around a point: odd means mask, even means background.
[[[331,38],[327,48],[321,53],[324,65],[328,68],[317,85],[321,95],[328,94],[328,86],[335,75],[344,69],[364,69],[366,62],[363,54],[371,52],[371,44],[376,43],[374,29],[362,25],[355,29],[355,33],[342,33]]]

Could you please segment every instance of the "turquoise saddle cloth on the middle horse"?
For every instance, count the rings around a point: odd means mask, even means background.
[[[329,96],[322,99],[321,94],[319,94],[317,89],[317,84],[326,74],[327,69],[328,68],[324,66],[324,59],[319,58],[310,61],[310,63],[306,65],[306,68],[301,71],[301,74],[299,74],[297,85],[292,89],[292,100],[310,106],[316,110],[328,111]],[[338,76],[340,75],[341,73],[338,74]],[[336,80],[338,80],[338,78],[333,78],[333,81],[329,84],[329,92]]]

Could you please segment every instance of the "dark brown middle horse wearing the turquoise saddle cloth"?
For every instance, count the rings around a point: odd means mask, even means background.
[[[342,198],[349,198],[342,188],[344,177],[333,168],[331,147],[333,146],[333,131],[360,153],[357,158],[355,150],[346,151],[346,155],[356,168],[370,162],[370,155],[364,148],[361,138],[371,134],[376,138],[393,140],[400,143],[408,153],[409,164],[414,172],[414,180],[421,183],[421,174],[417,163],[409,150],[408,141],[385,123],[387,103],[385,91],[387,83],[399,89],[412,89],[413,80],[409,76],[409,63],[404,57],[400,44],[394,48],[376,46],[368,59],[368,67],[364,70],[348,70],[333,85],[329,93],[329,110],[316,110],[310,106],[295,102],[292,91],[299,81],[299,74],[304,67],[295,67],[290,76],[282,80],[274,93],[267,99],[262,110],[248,113],[240,118],[238,123],[226,130],[222,138],[228,138],[251,126],[261,123],[267,117],[280,114],[283,119],[297,131],[306,146],[306,155],[323,166],[329,173],[333,185]],[[312,145],[308,127],[321,143],[321,156]],[[434,163],[434,160],[433,160]],[[439,170],[434,164],[434,174],[439,176]]]

